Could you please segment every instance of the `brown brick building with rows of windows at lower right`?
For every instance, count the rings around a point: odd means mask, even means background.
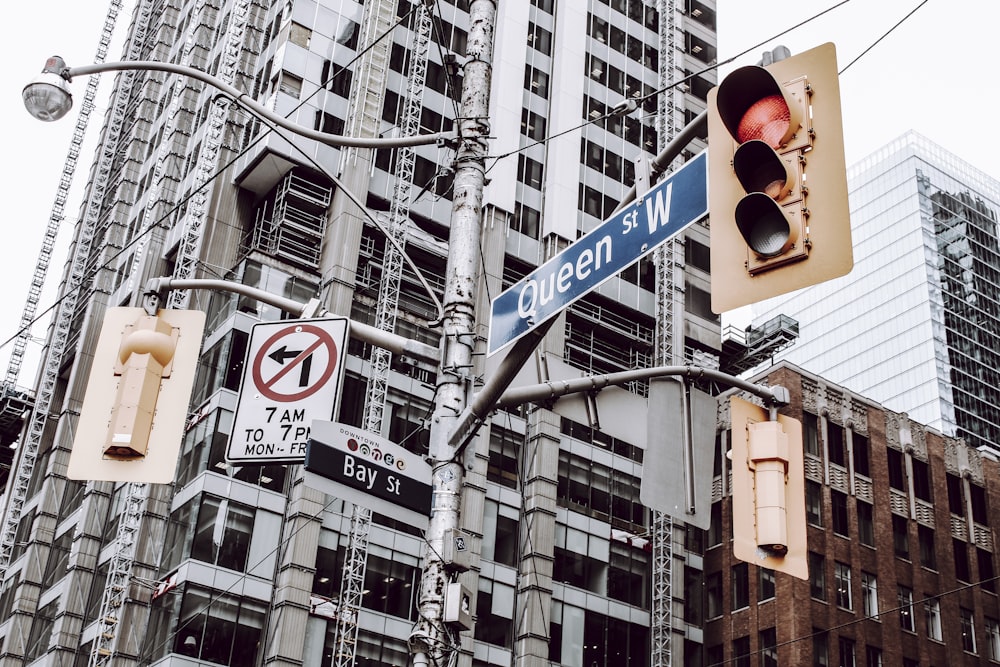
[[[787,387],[781,413],[802,423],[809,578],[733,558],[722,431],[721,522],[706,534],[704,598],[686,600],[704,610],[704,664],[1000,662],[996,457],[789,362],[754,381]]]

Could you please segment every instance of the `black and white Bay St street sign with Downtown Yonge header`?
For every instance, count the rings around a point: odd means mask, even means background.
[[[305,483],[421,530],[430,523],[430,465],[418,454],[355,426],[312,423]]]

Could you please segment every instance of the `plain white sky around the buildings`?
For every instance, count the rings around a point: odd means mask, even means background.
[[[506,2],[525,0],[503,0]],[[577,0],[573,0],[577,1]],[[718,0],[719,60],[838,4],[839,0]],[[131,3],[125,3],[131,7]],[[0,73],[0,100],[9,131],[2,166],[4,210],[9,233],[0,243],[0,343],[13,336],[35,271],[38,249],[76,122],[76,111],[57,123],[42,123],[23,110],[21,89],[58,54],[70,65],[91,63],[107,12],[107,0],[16,2],[7,11],[8,36],[0,42],[7,63]],[[823,42],[837,45],[840,68],[871,46],[915,8],[916,12],[841,76],[847,163],[852,164],[909,129],[914,129],[973,166],[1000,178],[1000,140],[994,87],[1000,68],[1000,2],[996,0],[850,0],[823,17],[755,48],[735,63],[753,64],[764,50],[782,44],[798,53]],[[131,9],[119,16],[119,28]],[[51,22],[46,24],[46,22]],[[121,30],[120,30],[121,32]],[[118,60],[115,44],[108,60]],[[105,76],[105,83],[111,80]],[[82,99],[85,82],[73,86]],[[65,247],[78,213],[78,192],[87,178],[92,141],[100,130],[104,97],[91,118],[58,244]],[[62,277],[64,254],[49,268],[38,311],[52,305]],[[33,335],[43,338],[37,324]],[[40,345],[30,344],[21,383],[34,377]],[[8,365],[10,345],[0,347],[0,374]]]

